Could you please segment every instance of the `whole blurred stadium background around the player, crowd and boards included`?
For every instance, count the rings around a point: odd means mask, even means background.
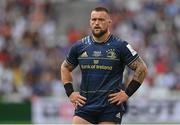
[[[180,123],[179,0],[0,0],[0,123],[71,123],[59,68],[96,6],[149,68],[123,123]]]

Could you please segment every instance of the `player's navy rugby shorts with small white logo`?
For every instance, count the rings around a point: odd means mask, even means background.
[[[123,105],[109,104],[106,107],[98,110],[90,110],[85,107],[79,107],[75,110],[75,116],[79,116],[92,124],[100,122],[114,122],[121,124],[122,116],[124,114]]]

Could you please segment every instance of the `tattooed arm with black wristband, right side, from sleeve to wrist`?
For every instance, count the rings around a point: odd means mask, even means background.
[[[130,97],[143,83],[148,69],[141,57],[138,57],[134,62],[129,64],[128,67],[134,70],[133,78],[125,91],[125,93]]]

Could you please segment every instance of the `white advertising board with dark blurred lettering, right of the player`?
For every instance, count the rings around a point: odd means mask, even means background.
[[[124,123],[180,123],[180,99],[132,98]]]

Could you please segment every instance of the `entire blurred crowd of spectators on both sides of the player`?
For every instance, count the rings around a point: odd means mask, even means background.
[[[110,9],[111,31],[128,41],[148,65],[144,84],[180,91],[180,1],[100,0]],[[58,14],[50,0],[7,0],[0,5],[0,98],[64,96],[59,69],[68,48],[89,34],[71,28],[57,40]],[[79,71],[75,73],[79,78]]]

